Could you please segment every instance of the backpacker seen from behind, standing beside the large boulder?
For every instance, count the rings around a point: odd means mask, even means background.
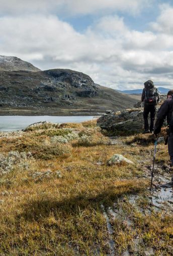
[[[144,101],[144,133],[153,133],[156,105],[159,101],[159,94],[153,81],[148,80],[144,83],[141,102]],[[148,124],[148,114],[150,113],[150,127]]]

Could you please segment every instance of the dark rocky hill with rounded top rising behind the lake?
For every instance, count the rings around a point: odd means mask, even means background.
[[[72,70],[0,71],[0,77],[1,115],[96,115],[138,100]]]

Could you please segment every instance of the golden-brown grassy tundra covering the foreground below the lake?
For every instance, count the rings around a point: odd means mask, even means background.
[[[0,136],[0,255],[173,254],[172,210],[148,191],[151,135],[111,140],[89,121]],[[115,153],[134,165],[108,166]]]

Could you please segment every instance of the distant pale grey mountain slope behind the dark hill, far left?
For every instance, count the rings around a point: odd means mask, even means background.
[[[0,71],[19,71],[19,70],[27,70],[32,72],[40,71],[40,69],[34,67],[31,63],[22,61],[17,57],[0,55]]]

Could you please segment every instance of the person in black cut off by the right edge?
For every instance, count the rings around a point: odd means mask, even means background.
[[[154,134],[157,134],[161,131],[161,126],[164,122],[164,119],[167,118],[167,144],[168,144],[168,153],[170,156],[171,165],[173,166],[173,90],[169,90],[167,92],[167,99],[161,105],[158,113],[157,120],[154,126]],[[173,173],[171,177],[171,181],[173,182]]]

